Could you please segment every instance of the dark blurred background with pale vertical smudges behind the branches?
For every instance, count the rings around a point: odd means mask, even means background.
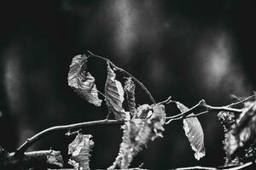
[[[141,80],[156,101],[189,107],[200,99],[227,105],[230,94],[255,89],[255,6],[239,0],[55,0],[5,1],[0,5],[0,144],[13,151],[44,128],[106,117],[105,105],[90,105],[67,85],[74,55],[86,50],[111,59]],[[104,89],[106,64],[89,59],[97,88]],[[121,75],[122,76],[122,75]],[[120,78],[120,81],[123,81]],[[150,100],[137,87],[137,104]],[[174,105],[167,116],[177,114]],[[166,126],[164,139],[148,144],[132,162],[166,169],[224,163],[223,129],[217,113],[200,116],[206,156],[196,161],[183,123]],[[86,127],[95,147],[90,167],[106,168],[119,151],[118,126]],[[31,150],[61,150],[73,138],[55,133]]]

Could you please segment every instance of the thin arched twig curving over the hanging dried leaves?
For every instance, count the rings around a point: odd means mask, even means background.
[[[144,86],[143,82],[140,82],[139,80],[137,80],[136,77],[132,76],[130,72],[125,71],[124,69],[118,67],[117,65],[114,65],[113,62],[112,62],[111,60],[109,60],[109,59],[106,59],[106,58],[104,58],[104,57],[102,57],[102,56],[100,56],[100,55],[93,54],[93,53],[91,53],[89,50],[87,50],[87,52],[90,54],[90,56],[94,56],[94,57],[96,57],[96,58],[99,58],[99,59],[103,59],[103,60],[108,61],[111,65],[113,65],[113,67],[114,67],[116,70],[118,70],[118,71],[120,71],[120,72],[123,72],[123,73],[125,73],[126,75],[128,75],[129,77],[131,77],[135,82],[137,82],[137,84],[139,84],[139,85],[143,88],[143,90],[146,92],[146,94],[148,94],[149,99],[151,99],[151,101],[152,101],[154,104],[156,104],[156,102],[155,102],[155,100],[154,100],[152,94],[150,94],[150,92],[148,91],[148,88],[146,88],[146,87]]]

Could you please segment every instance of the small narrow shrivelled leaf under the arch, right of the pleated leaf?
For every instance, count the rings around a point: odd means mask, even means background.
[[[135,83],[131,80],[131,77],[128,77],[125,81],[125,93],[127,96],[129,111],[131,112],[131,116],[133,116],[136,111]]]

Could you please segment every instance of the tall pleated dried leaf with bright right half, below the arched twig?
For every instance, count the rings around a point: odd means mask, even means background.
[[[121,82],[115,79],[116,75],[108,64],[108,77],[105,84],[106,103],[117,120],[130,120],[130,114],[123,109],[124,89]]]

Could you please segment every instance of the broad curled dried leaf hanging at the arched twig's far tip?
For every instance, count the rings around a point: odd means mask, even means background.
[[[86,62],[85,54],[73,58],[67,77],[68,85],[91,104],[100,106],[102,100],[98,98],[95,78],[86,71]]]

